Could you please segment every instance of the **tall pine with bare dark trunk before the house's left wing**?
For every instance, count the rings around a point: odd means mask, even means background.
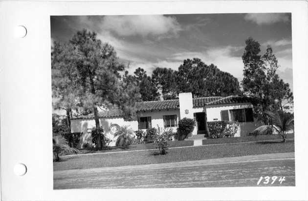
[[[86,93],[82,99],[83,106],[92,109],[96,129],[103,133],[100,130],[97,107],[104,107],[112,101],[113,94],[119,89],[119,72],[125,66],[118,62],[112,46],[96,39],[95,32],[88,32],[86,29],[78,31],[70,44],[74,47],[72,60],[76,62],[78,83]],[[100,142],[101,135],[97,135],[98,150],[102,149]]]

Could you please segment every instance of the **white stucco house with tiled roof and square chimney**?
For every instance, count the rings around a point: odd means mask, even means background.
[[[138,105],[138,121],[125,121],[123,114],[118,110],[99,112],[100,124],[104,134],[111,140],[119,126],[129,125],[133,130],[147,128],[170,127],[176,131],[180,119],[187,117],[195,120],[195,129],[188,138],[202,139],[208,136],[208,121],[238,121],[240,128],[235,137],[245,136],[262,125],[253,116],[251,98],[204,97],[193,98],[191,93],[180,93],[178,100],[146,101]],[[83,132],[80,144],[89,136],[95,126],[93,114],[71,119],[71,132]],[[110,143],[114,146],[115,142]],[[80,145],[79,145],[80,146]]]

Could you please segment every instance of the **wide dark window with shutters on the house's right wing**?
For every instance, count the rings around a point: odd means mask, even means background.
[[[253,122],[252,108],[221,110],[221,121]]]

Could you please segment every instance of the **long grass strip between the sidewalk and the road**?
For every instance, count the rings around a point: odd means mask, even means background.
[[[63,158],[60,162],[54,162],[53,169],[54,171],[88,169],[176,161],[194,161],[283,152],[294,152],[294,141],[287,141],[286,143],[265,141],[254,143],[215,144],[211,146],[196,147],[189,146],[169,149],[167,155],[158,155],[157,150],[124,153],[115,152],[95,155],[86,154],[80,156],[72,155]]]

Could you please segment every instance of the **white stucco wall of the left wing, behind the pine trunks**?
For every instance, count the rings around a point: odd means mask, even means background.
[[[123,118],[101,118],[100,119],[100,125],[104,129],[104,135],[108,137],[111,140],[114,140],[113,142],[110,142],[110,146],[115,145],[115,138],[113,134],[110,133],[109,128],[111,124],[118,124],[119,126],[124,125],[130,125],[132,130],[138,130],[138,121],[124,121]],[[88,128],[91,129],[92,127],[95,127],[95,121],[94,119],[79,119],[79,120],[71,120],[71,132],[83,132],[83,135],[80,140],[80,144],[77,146],[77,148],[81,147],[81,144],[87,140],[91,136],[90,133],[88,133]]]

